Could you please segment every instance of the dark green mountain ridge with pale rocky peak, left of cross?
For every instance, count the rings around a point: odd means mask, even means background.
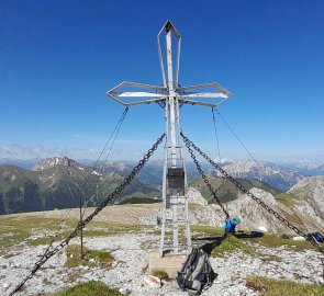
[[[33,170],[0,166],[0,214],[98,206],[121,184],[118,172],[98,172],[68,158],[40,161]],[[157,189],[134,180],[115,202],[159,196]]]

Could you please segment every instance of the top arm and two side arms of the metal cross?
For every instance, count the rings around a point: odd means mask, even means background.
[[[163,57],[163,50],[160,46],[161,34],[166,32],[166,61]],[[172,48],[171,41],[172,36],[178,42],[177,50],[177,66],[174,68],[172,61]],[[115,88],[107,92],[107,95],[115,100],[116,102],[125,105],[139,105],[166,102],[168,99],[179,101],[180,103],[192,104],[192,105],[204,105],[214,107],[219,103],[205,102],[200,99],[228,99],[231,93],[216,82],[210,82],[204,84],[181,87],[179,84],[179,67],[180,67],[180,48],[181,48],[181,35],[170,21],[167,21],[160,32],[157,35],[158,55],[160,60],[160,69],[163,75],[163,86],[152,86],[136,82],[124,81],[118,84]],[[165,62],[167,66],[167,76],[165,72]],[[122,91],[123,88],[139,88],[149,91]],[[209,92],[195,92],[198,89],[211,89]],[[142,99],[135,101],[129,101],[129,99]],[[144,99],[144,100],[143,100]]]

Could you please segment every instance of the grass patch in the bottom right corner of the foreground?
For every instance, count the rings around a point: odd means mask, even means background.
[[[324,286],[315,284],[299,284],[290,281],[279,281],[262,276],[247,277],[246,286],[260,292],[262,296],[320,296],[324,295]]]

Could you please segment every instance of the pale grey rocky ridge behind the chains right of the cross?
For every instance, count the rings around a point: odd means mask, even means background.
[[[252,189],[250,192],[280,216],[284,217],[289,223],[295,225],[300,230],[304,232],[323,232],[324,220],[316,214],[319,210],[315,210],[308,202],[298,201],[295,204],[286,206],[277,202],[268,192],[259,189]],[[224,207],[231,217],[238,216],[242,218],[242,224],[237,226],[237,230],[241,228],[257,230],[259,227],[265,227],[270,232],[275,234],[294,234],[283,223],[246,194],[242,195],[236,201],[224,204]],[[316,205],[316,208],[321,208],[321,212],[323,207],[324,203]],[[222,227],[226,218],[221,207],[216,204],[203,206],[190,214],[191,220],[194,221],[194,224],[205,224],[215,227]]]

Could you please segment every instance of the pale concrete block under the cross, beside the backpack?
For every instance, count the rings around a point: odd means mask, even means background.
[[[169,254],[160,257],[158,251],[148,253],[148,272],[164,271],[168,274],[169,278],[176,278],[178,271],[181,270],[187,255],[183,254]]]

